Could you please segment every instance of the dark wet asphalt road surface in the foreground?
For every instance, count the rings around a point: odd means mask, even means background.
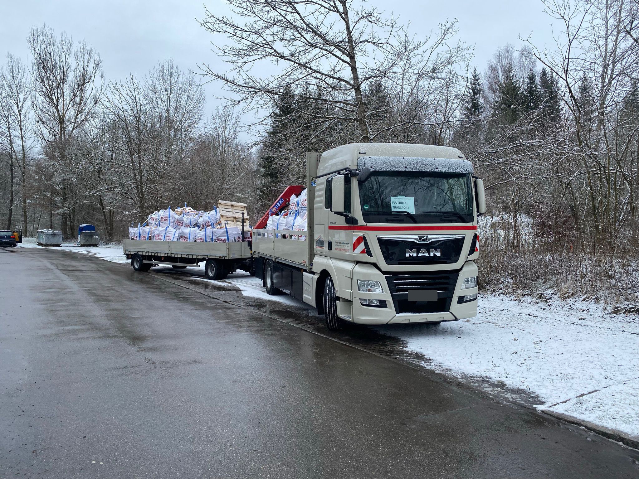
[[[0,277],[0,479],[639,477],[635,450],[276,310],[40,248]]]

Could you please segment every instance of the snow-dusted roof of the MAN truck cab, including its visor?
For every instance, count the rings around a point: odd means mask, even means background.
[[[386,171],[473,172],[472,164],[461,151],[449,146],[351,143],[322,153],[318,175],[344,168],[362,169],[365,166]]]

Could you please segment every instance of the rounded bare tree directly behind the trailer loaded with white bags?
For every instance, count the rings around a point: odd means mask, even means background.
[[[176,176],[185,169],[199,127],[204,95],[192,73],[173,61],[158,64],[144,79],[129,75],[109,82],[100,128],[105,156],[123,212],[139,221],[148,208],[174,201]]]

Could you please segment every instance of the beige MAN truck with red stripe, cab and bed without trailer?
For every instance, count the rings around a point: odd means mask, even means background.
[[[253,230],[256,276],[327,327],[477,315],[484,185],[456,148],[355,143],[307,154],[307,231]]]

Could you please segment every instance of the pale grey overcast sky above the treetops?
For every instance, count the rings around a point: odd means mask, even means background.
[[[100,53],[104,75],[119,79],[129,72],[143,75],[161,60],[196,70],[206,62],[224,68],[211,52],[210,34],[197,19],[203,3],[212,11],[222,0],[0,0],[0,53],[27,58],[29,27],[44,24],[86,40]],[[413,33],[435,29],[447,18],[459,19],[459,36],[475,46],[480,70],[498,47],[518,45],[532,34],[535,44],[552,43],[550,17],[541,0],[371,0],[386,13],[410,20]],[[1,62],[0,62],[1,63]],[[206,86],[207,110],[219,105],[217,86]]]

